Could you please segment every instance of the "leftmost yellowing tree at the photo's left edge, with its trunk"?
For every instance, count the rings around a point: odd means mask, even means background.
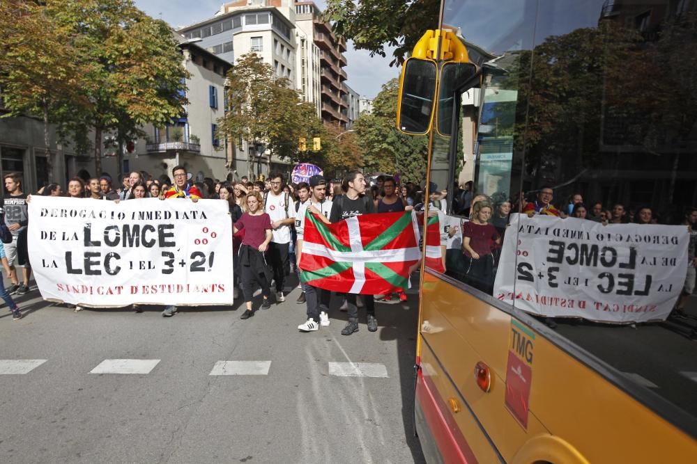
[[[48,182],[54,181],[50,124],[63,134],[71,115],[89,101],[82,90],[90,65],[74,46],[69,26],[54,20],[51,11],[33,1],[0,2],[0,88],[5,117],[39,115]]]

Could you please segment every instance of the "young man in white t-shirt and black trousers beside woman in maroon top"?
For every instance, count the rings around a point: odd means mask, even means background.
[[[276,303],[286,301],[283,295],[283,284],[286,275],[290,273],[288,259],[291,243],[291,225],[295,222],[296,207],[293,198],[283,191],[283,177],[279,173],[269,175],[271,190],[264,193],[264,211],[271,217],[273,239],[268,246],[268,264],[273,269],[273,279],[276,282]]]

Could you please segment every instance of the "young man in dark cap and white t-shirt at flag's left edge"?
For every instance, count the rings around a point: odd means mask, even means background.
[[[307,202],[302,202],[296,216],[296,232],[298,232],[298,244],[296,255],[298,259],[298,269],[300,269],[300,258],[302,256],[302,239],[305,231],[305,212],[316,214],[328,221],[332,211],[331,200],[326,199],[327,180],[321,175],[314,175],[309,178],[310,197]],[[329,326],[329,302],[331,292],[329,290],[314,287],[314,285],[302,281],[300,273],[302,291],[305,292],[305,304],[307,305],[307,321],[298,326],[300,332],[314,332],[319,326]]]

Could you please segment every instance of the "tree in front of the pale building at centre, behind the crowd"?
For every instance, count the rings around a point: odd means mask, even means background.
[[[301,102],[290,81],[276,78],[273,67],[260,56],[240,56],[227,74],[227,108],[218,120],[221,138],[241,145],[261,143],[278,157],[299,161],[300,138],[312,141],[322,131],[314,105]]]

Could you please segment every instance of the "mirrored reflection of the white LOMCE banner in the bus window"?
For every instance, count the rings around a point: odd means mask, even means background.
[[[684,285],[688,242],[682,225],[513,214],[494,296],[550,317],[664,320]]]

